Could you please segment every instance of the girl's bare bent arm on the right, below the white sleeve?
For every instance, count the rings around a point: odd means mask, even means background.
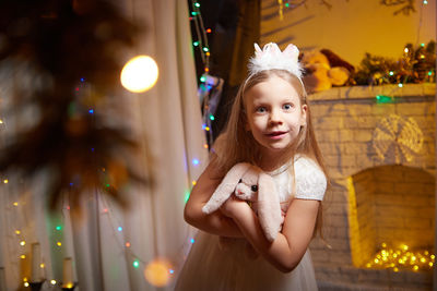
[[[229,198],[222,211],[232,217],[246,239],[273,266],[283,272],[292,271],[304,256],[316,226],[319,201],[293,199],[285,215],[282,233],[269,242],[258,217],[246,202]]]

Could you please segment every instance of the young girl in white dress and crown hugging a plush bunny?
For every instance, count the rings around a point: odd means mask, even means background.
[[[185,208],[186,221],[201,231],[176,290],[317,290],[307,248],[327,178],[300,77],[295,46],[281,51],[275,44],[263,50],[256,45],[227,128]],[[273,242],[249,204],[234,195],[218,210],[202,211],[226,172],[241,161],[275,181],[284,223]],[[258,257],[247,255],[247,242]]]

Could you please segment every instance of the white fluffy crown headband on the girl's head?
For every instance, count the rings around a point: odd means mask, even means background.
[[[248,64],[249,75],[265,70],[279,69],[288,71],[300,80],[303,69],[298,58],[299,50],[292,44],[290,44],[283,51],[281,51],[274,43],[264,45],[262,50],[258,44],[255,44],[255,57],[250,58]]]

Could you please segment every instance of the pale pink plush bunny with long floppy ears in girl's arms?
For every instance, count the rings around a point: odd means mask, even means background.
[[[265,238],[271,242],[274,241],[284,218],[273,178],[256,166],[239,162],[226,173],[202,211],[204,214],[215,211],[232,194],[251,202]]]

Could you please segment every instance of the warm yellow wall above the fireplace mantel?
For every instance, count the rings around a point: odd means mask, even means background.
[[[381,0],[307,0],[296,9],[283,9],[279,0],[261,0],[261,43],[294,43],[302,50],[328,48],[346,61],[358,64],[364,53],[399,58],[406,43],[436,39],[436,0],[415,0],[416,12],[393,12],[402,5],[386,7]],[[286,3],[286,0],[282,0]],[[300,1],[288,1],[300,2]],[[422,13],[422,26],[420,16]]]

